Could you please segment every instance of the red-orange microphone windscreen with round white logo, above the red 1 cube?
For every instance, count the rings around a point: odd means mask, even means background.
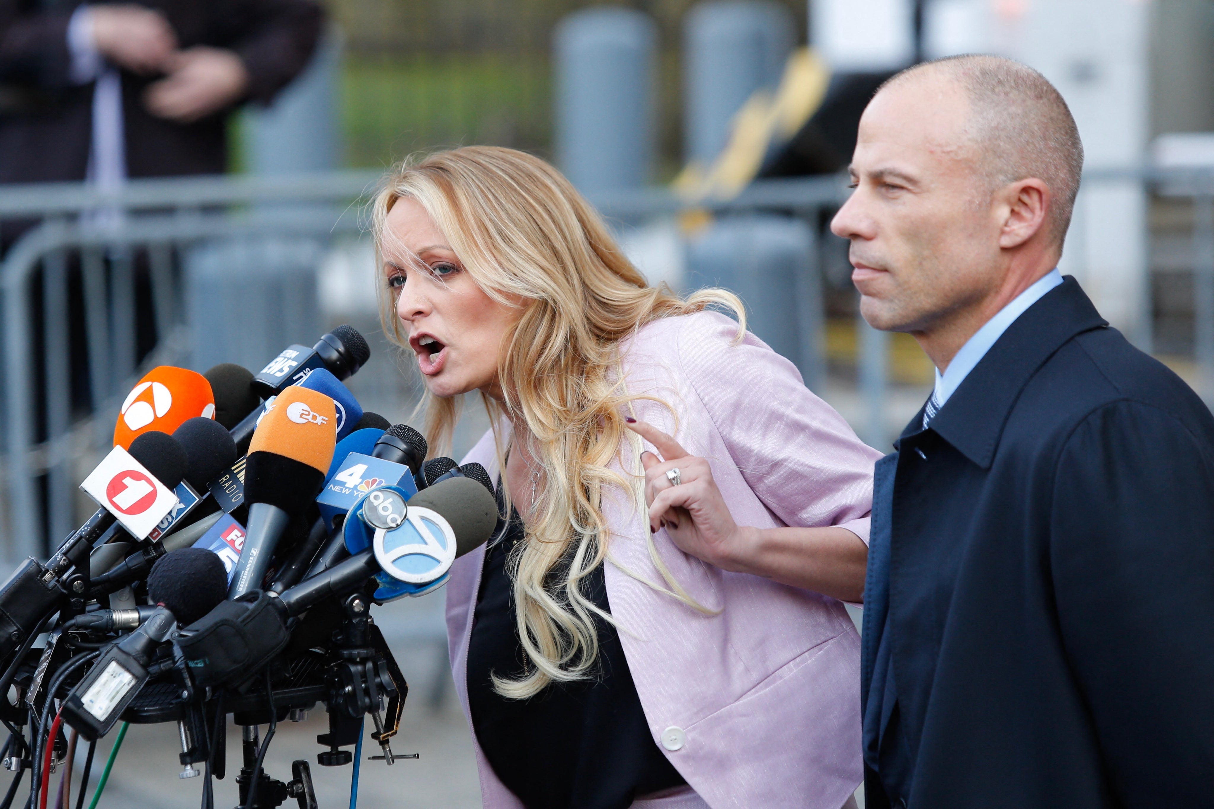
[[[206,377],[171,365],[153,368],[126,394],[114,425],[114,445],[130,450],[142,433],[171,433],[194,416],[215,416],[215,395]]]

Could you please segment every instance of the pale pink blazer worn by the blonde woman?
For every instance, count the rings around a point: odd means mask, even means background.
[[[758,337],[748,332],[731,346],[736,331],[711,312],[641,329],[623,348],[628,391],[654,394],[674,414],[639,400],[635,416],[710,460],[738,524],[841,525],[867,542],[880,452]],[[635,449],[625,446],[624,457],[632,463]],[[498,478],[492,433],[467,461]],[[704,615],[624,571],[662,583],[648,520],[623,492],[602,508],[613,530],[605,570],[612,615],[649,731],[670,762],[714,809],[838,809],[862,779],[860,636],[844,605],[705,564],[658,531],[653,542],[670,572],[716,610]],[[483,562],[483,547],[458,559],[447,585],[452,672],[465,716]],[[484,805],[521,807],[480,745],[476,754]]]

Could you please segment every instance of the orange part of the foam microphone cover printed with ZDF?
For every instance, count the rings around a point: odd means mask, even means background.
[[[273,452],[312,467],[323,478],[337,443],[336,416],[333,399],[293,384],[278,394],[257,425],[249,455]]]

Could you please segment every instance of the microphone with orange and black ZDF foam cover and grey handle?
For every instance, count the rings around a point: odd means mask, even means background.
[[[336,443],[333,399],[297,384],[278,394],[249,444],[244,467],[249,530],[228,598],[261,587],[291,514],[302,512],[320,492]]]

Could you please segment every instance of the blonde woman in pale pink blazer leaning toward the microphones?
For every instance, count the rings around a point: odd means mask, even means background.
[[[447,586],[484,805],[849,803],[860,639],[843,600],[863,591],[879,454],[708,311],[741,319],[737,298],[648,286],[537,158],[407,163],[374,220],[431,446],[460,394],[493,423],[466,461],[507,517]],[[656,501],[665,488],[683,496]]]

